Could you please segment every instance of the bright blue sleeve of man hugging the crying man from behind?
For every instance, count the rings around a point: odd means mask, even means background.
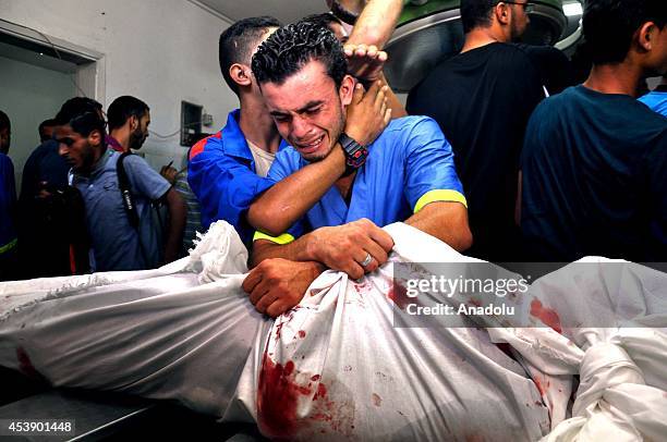
[[[206,149],[192,158],[187,182],[199,200],[205,228],[214,221],[226,220],[237,230],[245,225],[244,212],[257,195],[274,184],[221,149]]]

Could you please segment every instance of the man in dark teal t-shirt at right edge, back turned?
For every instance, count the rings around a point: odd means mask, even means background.
[[[522,154],[521,228],[533,259],[667,260],[667,119],[635,100],[667,72],[667,3],[586,7],[593,69],[541,103]]]

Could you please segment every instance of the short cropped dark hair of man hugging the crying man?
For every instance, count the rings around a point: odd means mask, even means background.
[[[234,94],[239,95],[239,85],[229,75],[229,69],[234,63],[251,63],[251,56],[259,39],[271,27],[280,27],[277,19],[269,15],[243,19],[220,34],[218,44],[218,60],[225,82]]]

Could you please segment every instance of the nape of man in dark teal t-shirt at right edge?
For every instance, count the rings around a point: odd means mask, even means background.
[[[642,71],[631,63],[594,65],[584,86],[601,94],[639,95]]]

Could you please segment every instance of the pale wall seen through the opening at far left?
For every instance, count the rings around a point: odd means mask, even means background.
[[[9,156],[14,163],[16,192],[25,160],[39,145],[39,123],[52,119],[74,90],[69,74],[0,57],[0,109],[12,123]]]

